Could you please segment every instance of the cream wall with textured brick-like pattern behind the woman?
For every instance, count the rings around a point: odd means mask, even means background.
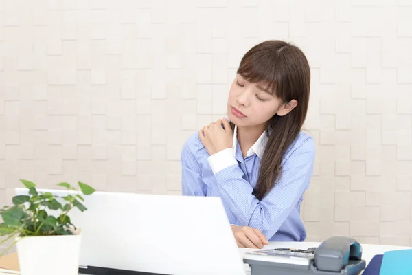
[[[1,0],[0,204],[19,178],[179,194],[244,52],[285,39],[312,68],[308,241],[411,245],[411,26],[412,0]]]

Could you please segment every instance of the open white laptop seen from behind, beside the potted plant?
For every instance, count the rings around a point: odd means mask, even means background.
[[[65,196],[76,191],[38,192]],[[16,188],[16,194],[28,190]],[[219,197],[122,192],[83,197],[87,211],[69,212],[82,229],[82,274],[245,274]]]

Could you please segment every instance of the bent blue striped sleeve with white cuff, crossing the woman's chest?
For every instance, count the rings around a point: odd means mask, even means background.
[[[314,166],[314,142],[308,137],[296,144],[286,157],[282,176],[268,195],[259,201],[253,194],[253,187],[242,178],[243,171],[235,165],[236,159],[231,148],[209,157],[208,162],[214,171],[217,186],[214,192],[219,195],[240,225],[258,228],[268,239],[284,223],[297,201],[308,188]],[[234,161],[233,161],[234,160]],[[223,166],[223,163],[230,166]]]

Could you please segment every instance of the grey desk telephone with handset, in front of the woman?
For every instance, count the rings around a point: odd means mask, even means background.
[[[243,262],[251,275],[358,275],[365,269],[362,247],[355,239],[333,236],[317,248],[272,248],[247,252]]]

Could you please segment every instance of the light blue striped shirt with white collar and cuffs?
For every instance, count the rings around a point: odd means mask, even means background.
[[[304,241],[300,205],[313,173],[312,137],[299,133],[284,153],[281,179],[260,201],[252,192],[267,137],[263,133],[243,157],[236,129],[233,147],[211,156],[197,132],[185,142],[181,151],[183,195],[220,197],[232,225],[258,228],[268,241]]]

